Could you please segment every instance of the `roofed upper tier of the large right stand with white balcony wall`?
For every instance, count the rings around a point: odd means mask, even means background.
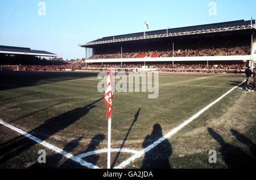
[[[188,61],[249,61],[250,66],[256,60],[256,27],[255,20],[236,20],[232,22],[205,24],[166,30],[138,32],[134,34],[103,37],[86,44],[87,63],[139,63],[143,62],[188,62]],[[236,47],[241,47],[236,49]],[[197,55],[193,51],[221,51],[220,49],[233,48],[233,53],[205,53]],[[243,51],[248,48],[249,50]],[[143,56],[144,52],[170,51],[170,56],[157,55]],[[180,52],[183,52],[180,55]],[[212,51],[212,50],[211,50]],[[231,50],[225,50],[226,52]],[[126,58],[126,53],[137,53],[133,58]],[[188,52],[192,52],[190,55]],[[140,55],[141,54],[141,55]],[[219,54],[219,55],[218,55]],[[105,58],[113,55],[110,58]],[[93,58],[97,56],[97,58]]]

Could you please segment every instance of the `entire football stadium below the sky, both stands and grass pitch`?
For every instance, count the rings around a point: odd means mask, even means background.
[[[236,20],[103,37],[80,44],[85,60],[75,63],[1,45],[0,168],[105,169],[108,153],[118,169],[255,168],[256,93],[245,75],[255,32],[255,20]],[[97,89],[110,70],[121,88],[111,148]],[[137,78],[122,81],[129,73]],[[148,74],[158,75],[158,98],[143,91]],[[130,84],[133,93],[122,89]]]

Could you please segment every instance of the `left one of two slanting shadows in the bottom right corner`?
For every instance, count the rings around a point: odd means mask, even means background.
[[[225,140],[212,128],[208,128],[209,134],[221,145],[220,153],[229,169],[243,169],[255,167],[254,160],[241,148],[226,143]]]

